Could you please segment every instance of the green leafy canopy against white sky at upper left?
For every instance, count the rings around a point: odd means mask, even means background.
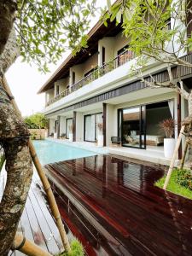
[[[20,0],[15,30],[24,61],[35,62],[48,72],[67,49],[73,53],[86,47],[90,18],[95,15],[96,0]]]

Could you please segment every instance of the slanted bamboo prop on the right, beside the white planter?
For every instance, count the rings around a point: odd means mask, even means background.
[[[184,127],[185,127],[185,125],[183,125],[181,127],[181,131],[179,133],[179,137],[177,138],[177,144],[176,144],[176,147],[174,149],[174,153],[172,155],[172,161],[171,161],[171,164],[170,164],[170,167],[169,167],[169,171],[167,172],[167,175],[166,175],[166,182],[164,183],[163,189],[166,189],[166,187],[167,187],[167,185],[169,183],[170,177],[172,175],[172,169],[173,169],[173,167],[175,165],[175,160],[176,160],[176,157],[177,157],[178,148],[179,148],[181,140],[182,140],[182,135],[183,135]]]

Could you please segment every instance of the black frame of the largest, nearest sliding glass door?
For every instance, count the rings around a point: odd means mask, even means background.
[[[139,147],[126,146],[126,145],[123,145],[123,143],[122,143],[122,138],[123,138],[123,110],[131,109],[131,108],[140,108],[140,113],[139,113]],[[120,119],[121,119],[121,124],[119,124],[119,121],[120,121],[119,120],[119,115],[120,115]],[[119,131],[119,125],[121,126],[120,131]],[[142,131],[143,131],[143,133],[142,133]],[[142,143],[142,136],[143,135],[144,135],[144,141]],[[118,109],[118,137],[121,138],[122,147],[146,149],[146,104]]]

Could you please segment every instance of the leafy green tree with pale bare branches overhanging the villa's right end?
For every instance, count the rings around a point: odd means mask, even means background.
[[[189,0],[126,0],[113,6],[108,0],[106,20],[122,22],[129,49],[137,55],[132,74],[154,88],[166,87],[177,90],[189,102],[189,118],[192,121],[192,90],[184,86],[181,77],[173,79],[172,67],[192,67],[192,62],[183,58],[192,50],[192,2]],[[171,22],[172,21],[172,22]],[[161,83],[149,73],[143,72],[153,61],[165,64],[168,80]]]

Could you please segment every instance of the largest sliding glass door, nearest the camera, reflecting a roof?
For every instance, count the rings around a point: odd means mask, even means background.
[[[120,109],[118,119],[122,145],[146,148],[145,106]]]

